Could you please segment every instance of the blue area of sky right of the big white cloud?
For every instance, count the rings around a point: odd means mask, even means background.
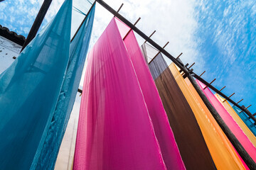
[[[208,81],[256,112],[256,1],[201,1],[196,6],[198,50]]]

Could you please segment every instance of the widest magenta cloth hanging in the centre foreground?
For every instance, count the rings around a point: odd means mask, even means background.
[[[87,57],[73,169],[166,169],[114,18]]]

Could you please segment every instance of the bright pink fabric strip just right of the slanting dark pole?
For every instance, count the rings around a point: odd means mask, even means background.
[[[220,117],[223,118],[225,124],[228,125],[228,128],[230,128],[235,137],[237,137],[242,147],[245,148],[250,157],[252,157],[252,159],[256,162],[256,148],[252,145],[252,142],[250,142],[245,133],[242,132],[239,125],[235,122],[235,120],[233,120],[228,111],[225,110],[224,106],[220,103],[220,101],[218,101],[218,98],[214,96],[213,92],[211,92],[208,87],[206,89],[203,89],[206,85],[203,84],[201,81],[196,80],[196,82],[202,89],[203,93],[206,94],[208,100],[210,101],[210,103],[212,103],[216,111],[218,111]]]

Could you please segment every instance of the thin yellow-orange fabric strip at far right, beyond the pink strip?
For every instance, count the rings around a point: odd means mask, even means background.
[[[222,105],[228,111],[228,113],[230,113],[230,115],[235,120],[235,122],[238,123],[239,127],[242,129],[242,131],[245,133],[245,135],[249,138],[250,142],[252,142],[252,145],[254,145],[256,147],[256,137],[255,137],[255,135],[253,135],[253,133],[250,131],[250,129],[247,127],[247,125],[245,125],[245,123],[242,121],[242,119],[239,117],[239,115],[230,106],[228,101],[224,101],[224,98],[222,98],[218,94],[215,94],[215,96],[216,96],[216,98],[218,98],[220,103],[222,103]]]

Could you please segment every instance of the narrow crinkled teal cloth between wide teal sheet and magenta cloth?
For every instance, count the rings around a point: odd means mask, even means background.
[[[41,150],[41,156],[36,169],[54,169],[60,144],[63,140],[63,135],[68,125],[70,113],[78,91],[82,68],[85,64],[85,57],[87,55],[92,33],[94,15],[95,6],[93,6],[90,13],[87,14],[85,22],[82,24],[80,30],[70,44],[70,61],[68,62],[68,69],[65,74],[63,87],[58,98],[58,104],[55,108],[53,120],[51,120],[46,142]],[[40,154],[40,152],[38,152],[38,154]]]

